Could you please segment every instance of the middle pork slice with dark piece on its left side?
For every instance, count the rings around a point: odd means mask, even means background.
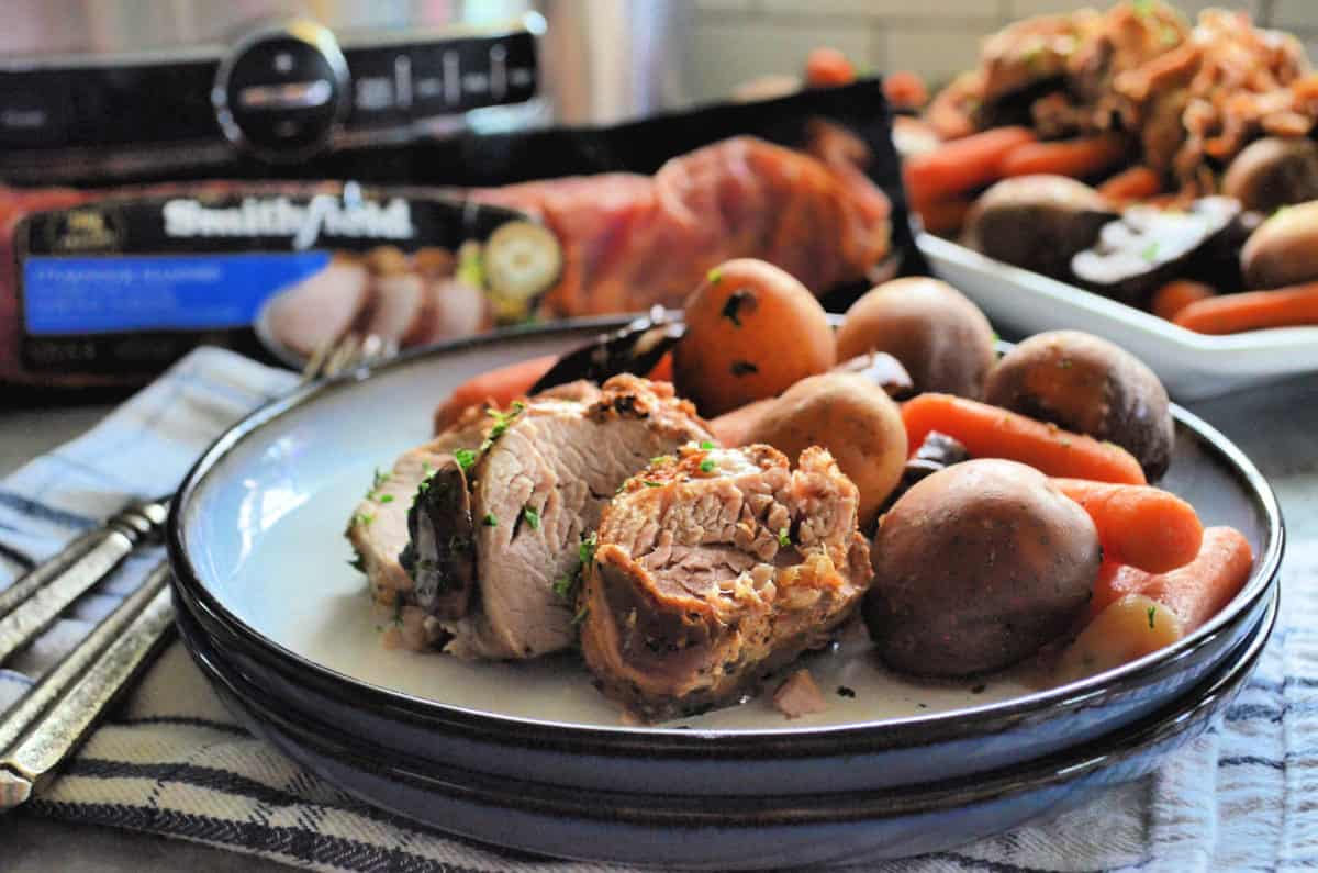
[[[445,468],[443,491],[418,496],[405,600],[444,630],[445,651],[532,658],[573,642],[583,539],[618,487],[651,458],[710,436],[671,385],[627,375],[531,397],[490,422],[460,471],[468,493],[453,498],[459,476]]]

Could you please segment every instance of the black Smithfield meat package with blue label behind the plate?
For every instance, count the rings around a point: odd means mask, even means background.
[[[349,332],[402,348],[679,306],[733,257],[833,309],[920,269],[876,80],[272,171],[0,190],[0,380],[127,385],[203,342],[297,364]]]

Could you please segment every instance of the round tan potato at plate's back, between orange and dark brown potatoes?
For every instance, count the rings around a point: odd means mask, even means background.
[[[887,352],[911,373],[916,392],[978,400],[996,357],[988,319],[961,291],[912,276],[875,286],[846,311],[837,356]]]

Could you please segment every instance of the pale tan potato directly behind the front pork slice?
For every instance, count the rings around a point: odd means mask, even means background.
[[[768,443],[788,458],[811,446],[828,448],[861,491],[862,529],[896,488],[907,458],[898,405],[858,373],[825,373],[796,382],[759,414],[747,442]]]

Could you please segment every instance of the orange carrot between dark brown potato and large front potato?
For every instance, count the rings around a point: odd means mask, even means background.
[[[1049,476],[1145,483],[1140,463],[1120,446],[965,397],[920,394],[902,406],[902,421],[909,446],[937,430],[961,440],[971,458],[1019,460]]]

